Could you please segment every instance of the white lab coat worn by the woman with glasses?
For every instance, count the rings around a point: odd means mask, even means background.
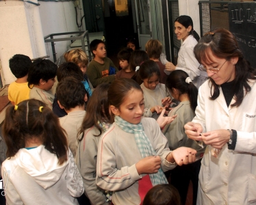
[[[199,174],[198,205],[256,204],[256,83],[239,107],[229,107],[220,87],[220,96],[209,100],[211,82],[199,88],[196,117],[192,120],[203,126],[203,133],[218,129],[234,129],[238,133],[235,150],[227,144],[218,159],[207,146]]]

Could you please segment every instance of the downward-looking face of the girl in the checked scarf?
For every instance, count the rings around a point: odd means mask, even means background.
[[[140,90],[133,89],[127,93],[127,97],[120,108],[116,110],[116,113],[113,113],[131,124],[138,124],[141,121],[143,111],[143,94]]]

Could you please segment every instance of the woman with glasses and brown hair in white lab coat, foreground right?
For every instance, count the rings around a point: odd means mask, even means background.
[[[207,149],[197,204],[256,203],[256,83],[230,31],[206,33],[194,48],[209,80],[199,88],[196,117],[185,124]]]

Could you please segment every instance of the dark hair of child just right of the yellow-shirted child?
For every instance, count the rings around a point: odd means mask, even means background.
[[[56,76],[57,66],[49,59],[36,59],[29,68],[27,82],[31,85],[39,85],[40,79],[48,81]]]

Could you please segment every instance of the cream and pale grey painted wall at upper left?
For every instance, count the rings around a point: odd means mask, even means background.
[[[16,80],[9,68],[9,59],[13,55],[28,55],[31,59],[50,55],[49,59],[53,61],[51,44],[44,43],[44,36],[79,30],[73,1],[32,1],[40,5],[24,1],[0,1],[0,59],[3,85]],[[77,4],[78,19],[81,19],[84,15],[82,3],[79,1]],[[78,23],[81,24],[80,20]],[[81,30],[85,28],[83,23]],[[70,44],[71,42],[55,42],[57,57],[67,51]]]

